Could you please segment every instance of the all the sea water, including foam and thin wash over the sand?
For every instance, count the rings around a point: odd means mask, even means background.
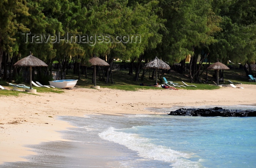
[[[61,131],[70,141],[30,146],[38,156],[26,157],[29,162],[11,167],[256,168],[256,117],[164,114],[177,108],[148,109],[163,112],[161,115],[59,117],[76,126]],[[88,154],[91,146],[104,146],[112,152]],[[99,165],[95,160],[107,164]]]

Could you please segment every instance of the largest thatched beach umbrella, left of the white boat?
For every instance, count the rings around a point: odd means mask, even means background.
[[[18,62],[14,64],[14,66],[29,66],[30,68],[30,89],[32,89],[32,67],[33,66],[48,66],[44,61],[34,57],[33,55],[30,55],[22,58]]]

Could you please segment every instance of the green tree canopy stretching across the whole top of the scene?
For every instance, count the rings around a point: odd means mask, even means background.
[[[62,72],[92,56],[108,60],[107,71],[116,59],[137,60],[135,80],[143,60],[184,64],[191,55],[191,82],[199,57],[244,66],[256,59],[256,0],[3,0],[0,19],[5,72],[8,56],[13,65],[29,51],[48,71],[54,60]]]

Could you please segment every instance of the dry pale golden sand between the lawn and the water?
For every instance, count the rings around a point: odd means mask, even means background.
[[[0,164],[26,161],[21,156],[33,153],[25,145],[57,141],[56,131],[69,127],[57,116],[85,114],[155,114],[145,108],[202,105],[255,105],[256,85],[236,85],[244,89],[221,87],[216,90],[139,90],[107,88],[64,89],[64,93],[20,94],[0,97]]]

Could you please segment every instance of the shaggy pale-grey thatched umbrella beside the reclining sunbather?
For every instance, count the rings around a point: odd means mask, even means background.
[[[153,59],[150,62],[146,63],[143,68],[144,69],[155,68],[155,83],[157,84],[157,70],[158,69],[169,70],[170,66],[167,63],[163,62],[162,60],[158,59],[157,56],[156,56],[155,59]]]

